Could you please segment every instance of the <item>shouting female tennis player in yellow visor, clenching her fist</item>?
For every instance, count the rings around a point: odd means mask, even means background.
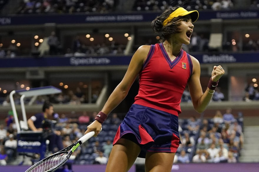
[[[85,133],[99,134],[101,124],[126,97],[139,75],[135,102],[124,117],[114,138],[106,172],[128,171],[137,157],[145,158],[145,171],[169,172],[180,144],[178,114],[183,91],[188,84],[195,110],[203,112],[210,102],[224,69],[214,66],[206,91],[200,84],[200,64],[182,50],[190,44],[198,11],[170,8],[152,21],[162,43],[142,45],[133,55],[127,72],[109,96],[95,121]]]

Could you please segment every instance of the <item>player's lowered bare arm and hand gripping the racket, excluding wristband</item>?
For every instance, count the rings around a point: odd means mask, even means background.
[[[130,87],[132,86],[139,72],[142,70],[143,63],[147,59],[149,50],[149,45],[142,45],[134,53],[122,81],[117,85],[104,104],[104,107],[101,110],[103,113],[108,115],[127,96]],[[97,128],[100,129],[101,124],[95,120],[87,127],[87,131],[85,133],[90,131],[97,131]],[[95,136],[96,135],[97,134],[95,134]]]

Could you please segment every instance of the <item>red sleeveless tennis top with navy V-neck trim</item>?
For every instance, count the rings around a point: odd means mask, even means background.
[[[162,43],[151,45],[139,73],[140,87],[135,104],[177,115],[183,91],[192,74],[192,60],[181,50],[171,61]]]

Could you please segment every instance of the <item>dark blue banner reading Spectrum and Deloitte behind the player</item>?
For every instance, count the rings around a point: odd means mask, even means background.
[[[194,55],[201,64],[255,63],[259,62],[258,53],[198,54]],[[114,66],[128,65],[131,56],[102,57],[43,57],[0,59],[0,67],[49,67],[49,66]]]

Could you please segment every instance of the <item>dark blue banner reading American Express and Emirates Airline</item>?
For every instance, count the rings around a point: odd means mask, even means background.
[[[200,11],[199,20],[212,18],[248,19],[259,18],[259,10],[244,11]],[[107,23],[107,22],[149,22],[160,13],[108,13],[108,14],[35,14],[20,16],[1,16],[0,25],[30,25],[44,23]]]

